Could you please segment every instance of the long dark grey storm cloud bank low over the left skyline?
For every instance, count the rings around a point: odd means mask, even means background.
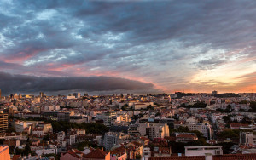
[[[34,77],[0,72],[0,89],[4,94],[68,90],[109,91],[152,89],[151,83],[141,83],[118,77]]]

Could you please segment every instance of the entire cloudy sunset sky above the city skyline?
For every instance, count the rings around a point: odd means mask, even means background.
[[[256,92],[256,1],[0,0],[0,88]]]

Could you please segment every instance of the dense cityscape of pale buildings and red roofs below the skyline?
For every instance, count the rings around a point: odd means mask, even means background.
[[[256,93],[0,99],[0,159],[254,159]]]

